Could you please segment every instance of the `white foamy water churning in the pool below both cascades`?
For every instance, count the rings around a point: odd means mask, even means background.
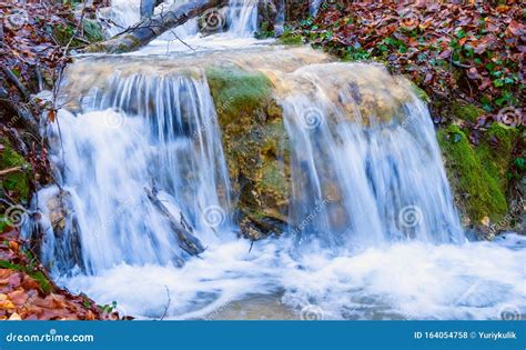
[[[498,320],[526,314],[524,249],[413,242],[337,258],[313,250],[293,259],[277,248],[286,246],[257,242],[249,252],[249,242],[226,242],[182,269],[123,264],[97,277],[78,276],[67,286],[98,302],[117,300],[124,313],[151,319],[161,318],[166,306],[166,319],[215,319],[221,318],[216,310],[234,304],[229,318],[241,319],[243,306],[259,294],[272,296],[294,318],[302,318],[302,310],[315,310],[322,319]],[[274,308],[262,306],[260,312]]]

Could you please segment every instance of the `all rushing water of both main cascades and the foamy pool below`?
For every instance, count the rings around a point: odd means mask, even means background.
[[[49,207],[59,189],[33,200],[58,282],[146,319],[525,313],[526,241],[466,240],[433,123],[407,81],[306,48],[146,52],[83,58],[67,73],[64,109],[47,132],[74,217],[58,234]],[[219,61],[267,74],[283,107],[293,194],[280,239],[251,246],[234,233],[203,69]],[[193,227],[200,258],[178,248],[153,189]]]

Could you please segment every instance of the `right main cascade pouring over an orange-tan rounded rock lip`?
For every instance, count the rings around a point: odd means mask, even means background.
[[[433,122],[408,83],[357,63],[310,66],[286,80],[297,86],[283,101],[294,233],[332,249],[465,240]]]

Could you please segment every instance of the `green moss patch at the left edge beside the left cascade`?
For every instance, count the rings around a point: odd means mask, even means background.
[[[0,170],[12,168],[21,169],[1,177],[0,187],[2,191],[10,193],[12,199],[27,202],[30,194],[30,164],[12,149],[7,139],[2,139],[1,144],[3,149],[0,150]]]

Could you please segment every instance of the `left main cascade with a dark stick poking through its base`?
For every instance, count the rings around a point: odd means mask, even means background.
[[[77,116],[62,110],[59,118],[51,160],[77,217],[78,228],[64,232],[78,231],[79,247],[48,228],[43,262],[57,273],[70,272],[75,254],[87,273],[121,262],[181,264],[175,233],[146,189],[203,242],[230,226],[229,177],[204,79],[115,73],[104,91],[85,94]],[[41,193],[40,209],[52,196]]]

